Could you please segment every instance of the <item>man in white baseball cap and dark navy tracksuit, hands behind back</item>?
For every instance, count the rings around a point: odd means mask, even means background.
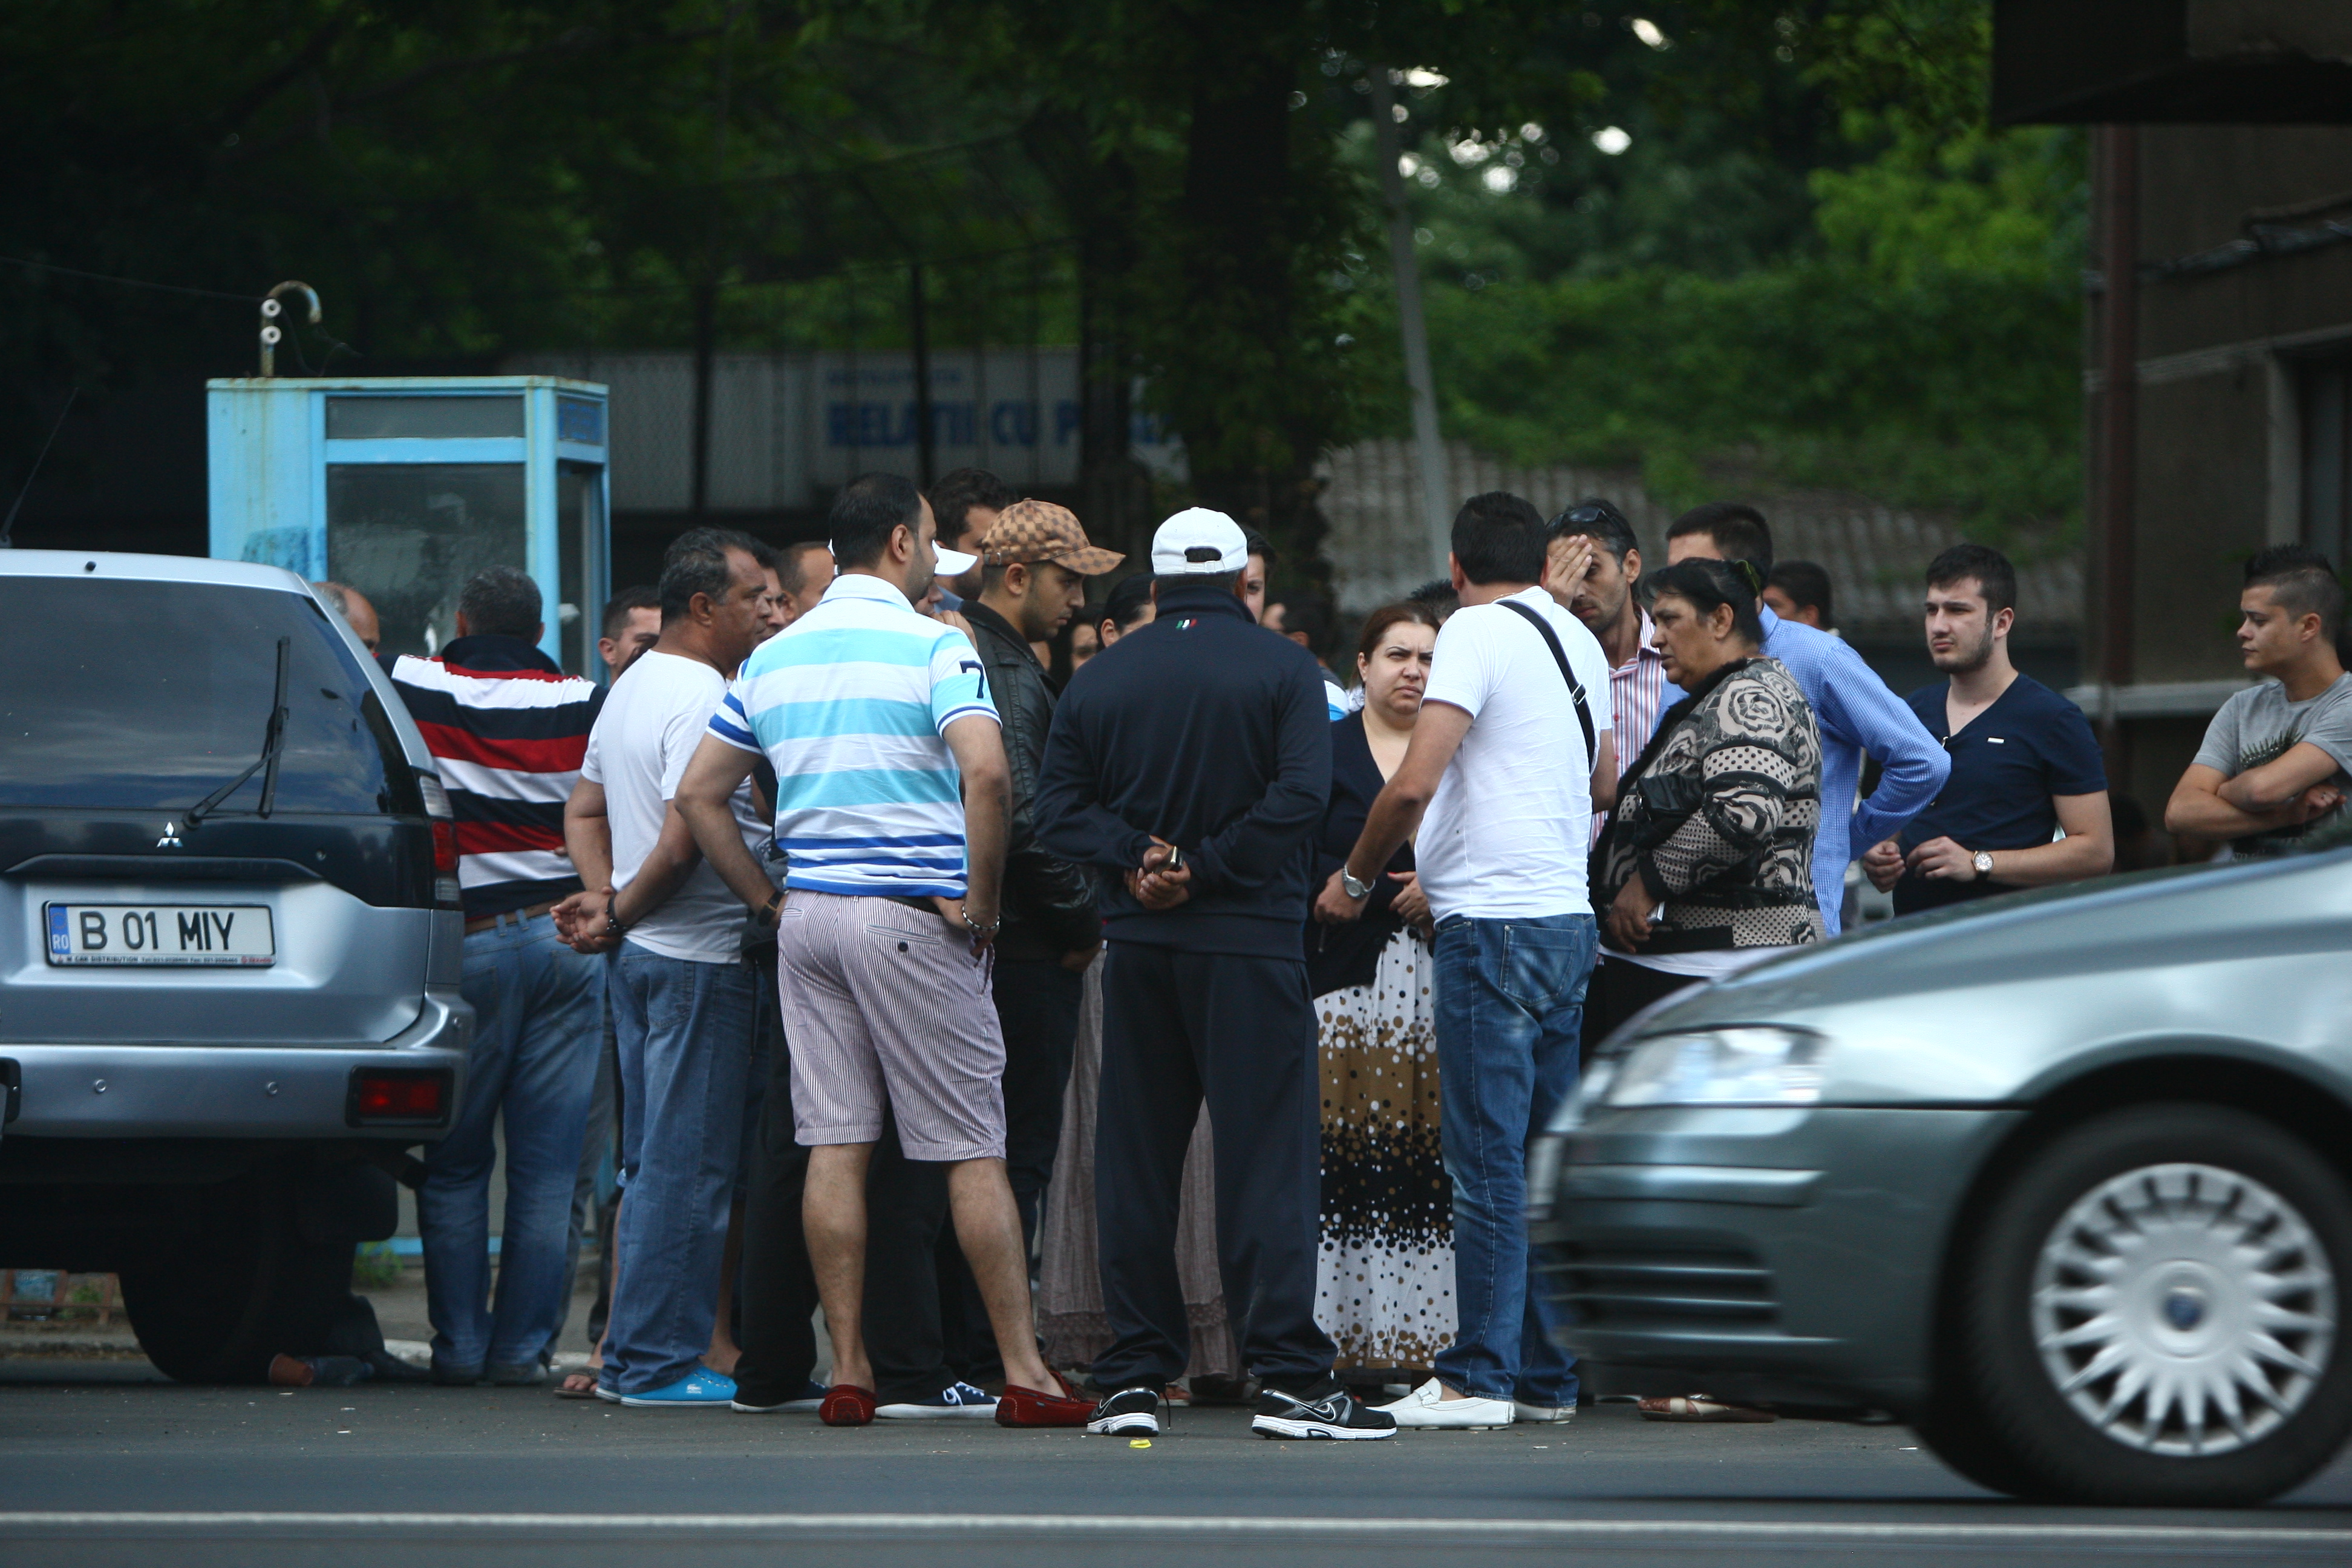
[[[1251,1427],[1378,1439],[1395,1420],[1331,1378],[1315,1326],[1322,1084],[1298,929],[1331,722],[1315,656],[1235,597],[1247,567],[1223,512],[1160,524],[1160,614],[1070,677],[1037,780],[1037,837],[1098,870],[1108,938],[1094,1201],[1115,1338],[1087,1429],[1157,1432],[1190,1356],[1176,1199],[1207,1098],[1225,1300],[1265,1389]]]

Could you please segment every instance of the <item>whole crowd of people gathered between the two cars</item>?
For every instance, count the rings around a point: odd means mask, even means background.
[[[1835,938],[1849,863],[1907,917],[2117,853],[2086,717],[2011,663],[1999,552],[1929,562],[1945,679],[1900,698],[1757,508],[1663,543],[1606,501],[1472,496],[1350,679],[1230,517],[1176,512],[1094,597],[1124,557],[978,470],[854,480],[823,545],[682,534],[604,611],[609,684],[539,651],[529,576],[482,571],[454,642],[390,661],[456,809],[480,1016],[419,1190],[433,1378],[548,1378],[612,1159],[567,1396],[1571,1420],[1524,1211],[1583,1053]],[[2260,679],[2166,825],[2258,856],[2347,818],[2352,677],[2326,559],[2256,555],[2239,611]]]

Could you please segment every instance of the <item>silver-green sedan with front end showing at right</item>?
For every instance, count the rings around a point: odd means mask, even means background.
[[[1571,1347],[1891,1410],[2018,1495],[2230,1505],[2352,1429],[2352,849],[1877,926],[1693,987],[1531,1154]]]

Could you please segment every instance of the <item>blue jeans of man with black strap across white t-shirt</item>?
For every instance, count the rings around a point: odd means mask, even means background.
[[[1437,924],[1439,1138],[1454,1180],[1461,1331],[1437,1375],[1463,1394],[1576,1403],[1526,1251],[1526,1143],[1576,1086],[1590,914]]]

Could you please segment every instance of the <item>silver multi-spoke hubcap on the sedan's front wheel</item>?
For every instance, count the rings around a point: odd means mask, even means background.
[[[2143,1166],[2067,1208],[2034,1262],[2034,1345],[2129,1448],[2211,1455],[2286,1422],[2336,1349],[2336,1274],[2303,1215],[2218,1166]]]

